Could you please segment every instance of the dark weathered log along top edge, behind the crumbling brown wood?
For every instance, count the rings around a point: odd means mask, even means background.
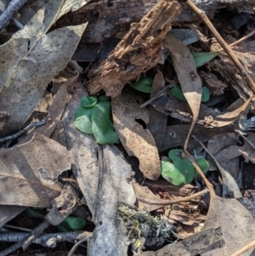
[[[250,6],[252,1],[194,0],[193,3],[211,18],[217,9],[225,7],[234,9],[236,6],[246,7]],[[81,43],[99,43],[105,38],[112,37],[118,31],[128,30],[130,24],[139,22],[157,2],[157,0],[91,1],[77,12],[66,14],[57,22],[56,26],[77,25],[88,21],[88,28],[84,32]],[[199,20],[199,17],[188,7],[184,7],[182,12],[173,20],[173,25],[191,23],[197,20]]]

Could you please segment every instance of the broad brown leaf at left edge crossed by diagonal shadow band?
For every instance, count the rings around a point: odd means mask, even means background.
[[[26,144],[0,151],[0,203],[48,208],[59,196],[59,174],[71,168],[63,146],[41,134]]]

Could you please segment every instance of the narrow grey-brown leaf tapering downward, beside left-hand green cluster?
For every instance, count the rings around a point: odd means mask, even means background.
[[[83,134],[74,126],[74,117],[77,108],[81,105],[81,98],[88,96],[82,82],[71,86],[69,102],[65,106],[61,118],[65,129],[67,149],[71,152],[72,172],[77,179],[79,187],[87,202],[88,208],[94,214],[94,203],[99,180],[99,163],[97,158],[97,145],[94,136]]]

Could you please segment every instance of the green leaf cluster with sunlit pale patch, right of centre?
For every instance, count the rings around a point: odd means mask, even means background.
[[[161,175],[173,185],[190,184],[195,174],[198,174],[189,158],[181,157],[182,152],[182,150],[171,150],[168,152],[168,157],[172,162],[161,161]],[[204,174],[207,173],[209,163],[205,158],[196,159],[195,162],[202,169]]]

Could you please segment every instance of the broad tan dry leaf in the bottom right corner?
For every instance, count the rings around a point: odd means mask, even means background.
[[[217,248],[215,245],[216,249],[210,248],[207,253],[201,253],[201,255],[229,256],[255,239],[255,220],[236,199],[211,196],[204,230],[218,226],[221,227],[223,233],[224,247]],[[252,255],[251,253],[250,250],[243,255]]]

